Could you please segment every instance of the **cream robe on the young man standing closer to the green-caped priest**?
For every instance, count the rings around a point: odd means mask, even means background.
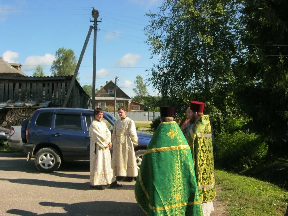
[[[126,117],[115,122],[112,139],[112,167],[116,176],[138,175],[134,145],[138,145],[135,123]]]

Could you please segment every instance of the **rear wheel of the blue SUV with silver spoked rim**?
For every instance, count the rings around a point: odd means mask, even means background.
[[[61,164],[58,151],[53,148],[43,148],[37,151],[34,159],[35,166],[43,173],[57,170]]]

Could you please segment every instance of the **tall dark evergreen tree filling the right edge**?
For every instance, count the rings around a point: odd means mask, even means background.
[[[274,149],[285,153],[283,148],[288,152],[288,4],[285,0],[243,0],[242,5],[241,58],[235,67],[237,96],[242,110],[251,119],[251,129],[266,137],[270,147],[273,143]]]

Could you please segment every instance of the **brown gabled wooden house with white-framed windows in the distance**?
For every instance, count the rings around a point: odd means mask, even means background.
[[[100,107],[109,112],[114,112],[115,99],[115,83],[110,80],[106,81],[105,86],[101,86],[100,90],[95,94],[95,107]],[[124,106],[127,112],[143,112],[144,104],[132,101],[118,86],[116,89],[116,107]]]

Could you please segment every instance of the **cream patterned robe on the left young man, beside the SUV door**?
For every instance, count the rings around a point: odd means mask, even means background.
[[[104,122],[94,120],[89,127],[89,136],[91,138],[90,184],[93,186],[111,184],[116,181],[116,178],[111,166],[109,148],[105,148],[111,141],[111,132]]]

